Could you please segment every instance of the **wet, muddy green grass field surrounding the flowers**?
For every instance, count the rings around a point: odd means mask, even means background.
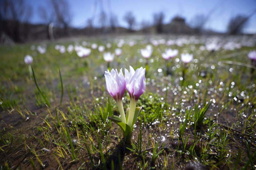
[[[255,46],[212,53],[200,51],[205,40],[196,39],[199,44],[170,46],[179,55],[169,64],[161,57],[165,44],[153,47],[148,60],[141,57],[137,49],[150,43],[147,38],[124,44],[110,63],[117,69],[148,67],[130,144],[108,119],[119,112],[105,89],[102,53],[79,58],[59,53],[56,43],[48,43],[45,54],[31,51],[31,44],[0,46],[0,169],[255,169],[256,72],[251,74],[246,55]],[[113,53],[116,40],[108,41]],[[182,52],[194,54],[186,71]],[[26,54],[34,58],[32,77]],[[123,97],[127,108],[129,94]]]

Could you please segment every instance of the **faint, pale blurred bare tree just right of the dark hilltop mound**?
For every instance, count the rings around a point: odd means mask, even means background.
[[[207,20],[208,20],[208,17],[206,17],[205,15],[197,14],[191,20],[190,26],[195,29],[195,33],[201,33]]]

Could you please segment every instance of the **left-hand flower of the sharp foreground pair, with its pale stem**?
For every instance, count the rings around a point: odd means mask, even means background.
[[[105,71],[104,76],[106,79],[106,89],[116,101],[122,122],[126,123],[124,108],[122,104],[122,98],[125,93],[126,84],[122,69],[120,69],[119,73],[117,69],[112,69],[110,72],[109,70]]]

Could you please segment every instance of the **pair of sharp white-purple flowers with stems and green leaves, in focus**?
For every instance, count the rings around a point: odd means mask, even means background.
[[[144,93],[146,88],[145,68],[138,68],[136,71],[130,66],[130,72],[125,69],[123,75],[122,69],[118,73],[117,69],[105,71],[106,89],[115,99],[121,118],[118,116],[109,117],[110,120],[118,124],[126,141],[130,141],[132,137],[133,125],[141,111],[142,107],[136,107],[139,97]],[[125,89],[130,95],[130,108],[127,108],[126,115],[124,113],[122,98]]]

